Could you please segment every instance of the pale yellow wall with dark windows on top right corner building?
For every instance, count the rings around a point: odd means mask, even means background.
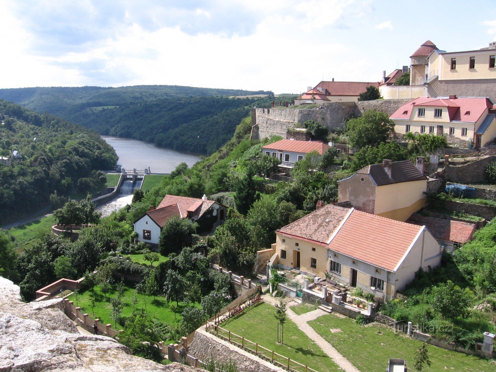
[[[489,56],[495,55],[496,49],[442,55],[439,80],[495,79],[496,68],[489,68]],[[470,57],[475,57],[475,68],[473,69],[469,69]],[[452,58],[456,58],[456,69],[454,70],[450,69]]]

